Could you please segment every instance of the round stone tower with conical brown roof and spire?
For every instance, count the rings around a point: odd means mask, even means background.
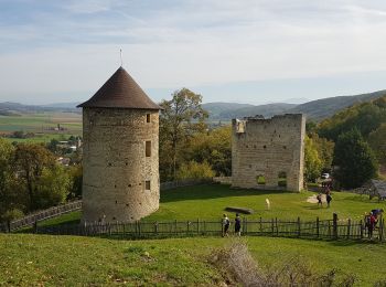
[[[122,68],[83,108],[82,222],[131,222],[159,208],[159,110]]]

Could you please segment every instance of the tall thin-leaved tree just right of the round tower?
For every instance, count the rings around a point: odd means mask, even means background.
[[[160,167],[162,180],[175,179],[183,142],[206,128],[207,113],[202,96],[187,88],[176,91],[171,100],[162,100],[160,115]]]

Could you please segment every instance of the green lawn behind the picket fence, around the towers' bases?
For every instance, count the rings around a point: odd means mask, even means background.
[[[332,219],[335,212],[339,219],[362,220],[365,212],[375,208],[386,210],[385,202],[369,201],[368,196],[346,192],[333,192],[331,208],[320,209],[317,204],[308,203],[307,199],[313,192],[272,192],[257,190],[233,190],[228,185],[207,184],[187,188],[179,188],[161,192],[160,209],[143,219],[144,221],[173,221],[173,220],[219,220],[226,206],[248,208],[255,214],[243,215],[248,219],[321,220]],[[267,210],[266,199],[269,199],[271,208]],[[233,216],[232,214],[229,214]],[[52,225],[79,221],[81,213],[64,215],[65,219],[52,219],[44,224]],[[41,223],[43,224],[43,223]]]

